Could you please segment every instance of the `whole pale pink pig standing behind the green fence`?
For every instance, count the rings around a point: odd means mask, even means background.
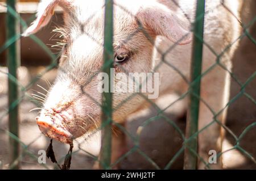
[[[104,3],[102,0],[42,1],[36,20],[23,33],[23,36],[29,36],[38,32],[51,20],[56,6],[62,7],[64,24],[61,33],[65,45],[56,81],[36,123],[46,136],[63,143],[70,144],[85,133],[95,131],[101,123],[102,95],[97,89],[100,79],[96,74],[104,64]],[[225,124],[231,59],[241,33],[237,20],[240,19],[240,9],[238,0],[206,1],[203,72],[208,73],[201,78],[199,130],[210,125],[199,134],[198,151],[207,163],[210,150],[222,151],[224,129],[219,123]],[[195,12],[195,0],[115,0],[115,74],[155,71],[159,73],[160,96],[187,92]],[[159,64],[162,65],[156,69]],[[150,105],[143,96],[131,95],[130,92],[113,94],[114,123],[125,126],[131,113]],[[214,116],[215,113],[218,115]],[[113,140],[114,161],[121,154],[118,147],[124,144],[124,136],[113,135]],[[198,169],[205,169],[201,159]],[[221,169],[221,158],[210,167]]]

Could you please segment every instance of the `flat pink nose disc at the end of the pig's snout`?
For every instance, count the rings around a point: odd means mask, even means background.
[[[58,140],[60,142],[71,144],[73,136],[65,128],[61,128],[59,125],[54,124],[51,121],[51,117],[36,117],[36,123],[39,126],[40,131],[46,136]]]

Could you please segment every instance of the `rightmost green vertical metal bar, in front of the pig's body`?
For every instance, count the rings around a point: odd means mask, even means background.
[[[204,13],[205,0],[197,0],[196,19],[193,27],[193,53],[191,62],[191,85],[189,87],[189,108],[187,113],[186,138],[198,131],[199,105],[200,100],[196,95],[200,95],[201,66],[203,59],[203,36],[204,36]],[[197,81],[195,81],[197,79]],[[184,169],[195,170],[197,168],[197,156],[192,153],[194,150],[197,153],[197,137],[187,142],[184,157]],[[191,150],[189,150],[189,149]]]

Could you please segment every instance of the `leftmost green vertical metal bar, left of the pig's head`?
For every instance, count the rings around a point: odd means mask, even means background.
[[[15,9],[16,0],[7,0],[7,15],[6,15],[6,27],[7,27],[7,39],[11,39],[15,36],[19,36],[19,27],[17,19],[11,15],[10,10]],[[7,65],[9,74],[13,75],[13,78],[18,79],[17,69],[20,64],[19,58],[19,41],[9,46],[7,50]],[[18,83],[9,79],[9,132],[19,137],[19,113],[18,113]],[[9,137],[10,142],[10,167],[12,169],[19,169],[19,142]]]

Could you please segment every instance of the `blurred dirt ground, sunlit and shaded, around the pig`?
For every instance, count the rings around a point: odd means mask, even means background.
[[[253,37],[256,37],[256,26],[251,28],[250,32],[253,33]],[[240,47],[237,49],[234,56],[234,68],[233,72],[236,74],[237,78],[245,83],[246,80],[255,73],[256,69],[256,46],[251,43],[251,41],[244,37],[241,41]],[[0,68],[1,71],[6,71],[5,68]],[[42,68],[22,68],[20,69],[20,82],[23,85],[27,85],[30,80],[35,77],[36,73],[43,70]],[[48,79],[49,82],[53,82],[56,75],[56,71],[52,70],[43,79]],[[47,87],[46,81],[40,79],[35,83],[33,87],[27,92],[31,95],[35,90],[42,91],[38,85]],[[8,129],[8,116],[6,115],[7,110],[7,77],[5,74],[0,73],[0,169],[6,169],[9,165],[9,141],[7,133],[3,130]],[[231,98],[234,98],[241,90],[241,87],[235,81],[232,81],[232,91]],[[246,86],[245,91],[254,100],[256,99],[256,79],[254,79],[248,86]],[[162,98],[158,105],[160,107],[166,106],[166,103],[171,103],[176,97],[175,95],[170,95],[168,97]],[[164,101],[163,101],[164,100]],[[178,102],[174,107],[166,111],[166,115],[169,119],[173,120],[174,123],[181,129],[185,131],[185,119],[179,116],[180,110],[184,107],[183,102]],[[28,145],[24,151],[23,158],[21,159],[20,169],[53,169],[56,165],[53,165],[47,159],[47,168],[40,165],[37,159],[31,157],[34,154],[38,157],[39,150],[46,150],[49,139],[43,136],[38,126],[35,123],[35,117],[37,116],[36,111],[29,112],[32,108],[35,108],[35,104],[32,103],[26,96],[22,103],[20,104],[20,141],[24,145]],[[155,116],[156,110],[154,108],[148,108],[142,112],[132,115],[129,118],[127,125],[128,131],[135,135],[139,126],[141,126],[145,120]],[[255,104],[246,98],[246,96],[241,96],[236,102],[232,103],[228,111],[227,127],[236,134],[240,136],[242,131],[250,124],[256,121],[256,106]],[[240,145],[243,149],[248,151],[254,158],[256,158],[256,127],[251,129],[245,134]],[[71,169],[92,169],[94,164],[94,158],[91,157],[87,151],[93,155],[98,155],[100,150],[100,134],[97,133],[93,136],[82,137],[75,142],[74,154],[72,156]],[[129,148],[133,148],[132,141],[127,139]],[[234,138],[227,133],[224,140],[224,150],[228,150],[234,145]],[[150,157],[158,166],[163,169],[168,162],[174,157],[177,151],[181,148],[182,140],[179,133],[175,131],[174,127],[167,123],[163,119],[154,121],[145,127],[139,138],[140,149]],[[59,142],[53,142],[53,149],[55,150],[57,159],[63,161],[63,157],[68,153],[69,146],[60,144]],[[224,169],[256,169],[256,164],[245,155],[241,154],[237,150],[228,151],[223,155],[224,158]],[[2,166],[1,166],[2,165]],[[150,162],[148,162],[141,154],[138,152],[131,153],[127,158],[125,158],[120,164],[121,169],[154,169]],[[183,154],[181,154],[176,161],[171,166],[171,169],[182,169],[183,168]]]

